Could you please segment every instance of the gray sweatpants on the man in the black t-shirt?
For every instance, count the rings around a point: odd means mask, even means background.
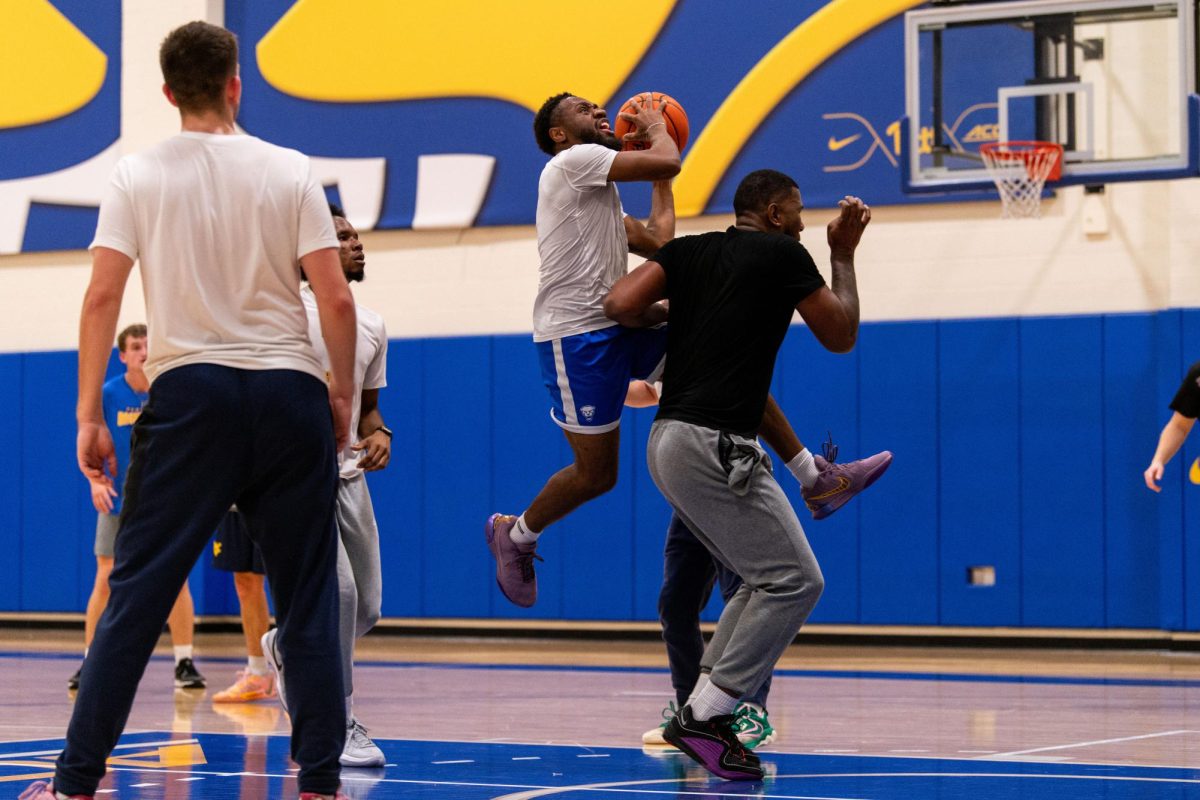
[[[701,669],[745,696],[774,670],[824,589],[800,521],[754,439],[677,420],[650,428],[654,483],[714,558],[742,576]]]

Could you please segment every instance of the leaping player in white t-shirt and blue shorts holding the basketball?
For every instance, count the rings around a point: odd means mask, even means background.
[[[538,146],[552,156],[538,185],[534,342],[551,417],[575,462],[552,475],[520,517],[487,521],[497,583],[522,607],[538,599],[533,561],[541,531],[617,482],[625,391],[630,379],[655,373],[666,349],[665,330],[622,327],[604,313],[629,253],[649,257],[674,236],[671,179],[679,150],[660,110],[636,104],[624,116],[634,125],[625,138],[646,142],[644,150],[623,151],[605,109],[568,92],[547,100],[534,118]],[[619,181],[654,182],[647,224],[622,209]]]

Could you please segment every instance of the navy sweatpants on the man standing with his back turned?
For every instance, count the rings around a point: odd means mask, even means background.
[[[337,790],[346,709],[336,492],[329,395],[317,378],[190,365],[155,380],[133,426],[112,594],[84,661],[55,789],[95,793],[175,596],[236,503],[275,599],[300,790]]]

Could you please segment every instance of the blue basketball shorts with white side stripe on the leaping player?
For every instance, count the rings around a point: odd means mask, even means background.
[[[551,419],[572,433],[606,433],[620,425],[629,381],[661,377],[667,329],[613,325],[536,347]]]

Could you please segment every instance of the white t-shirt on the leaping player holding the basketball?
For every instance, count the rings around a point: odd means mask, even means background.
[[[629,267],[625,212],[608,180],[616,157],[602,145],[577,144],[541,170],[534,342],[617,324],[604,315],[604,296]]]

